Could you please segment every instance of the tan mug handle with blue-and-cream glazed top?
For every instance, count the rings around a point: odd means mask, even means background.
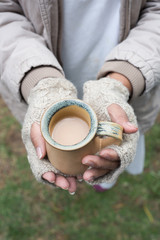
[[[95,137],[96,152],[109,145],[120,145],[122,143],[123,127],[117,123],[100,121]]]

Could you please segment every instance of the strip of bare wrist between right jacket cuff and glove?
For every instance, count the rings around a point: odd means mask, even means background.
[[[124,75],[120,74],[120,73],[116,73],[116,72],[111,72],[107,75],[107,77],[113,78],[119,82],[121,82],[129,91],[130,96],[132,95],[132,84],[129,81],[129,79],[127,77],[125,77]]]

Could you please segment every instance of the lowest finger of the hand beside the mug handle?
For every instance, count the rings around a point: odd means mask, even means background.
[[[111,170],[96,169],[96,168],[88,169],[84,172],[83,179],[85,181],[93,181],[94,179],[101,177],[110,171]]]

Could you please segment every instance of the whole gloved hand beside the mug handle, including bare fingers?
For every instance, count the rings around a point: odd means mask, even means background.
[[[138,141],[136,116],[128,104],[130,91],[122,82],[111,78],[91,80],[84,84],[83,100],[91,105],[99,121],[113,121],[124,128],[120,146],[111,145],[103,149],[98,156],[86,156],[82,162],[94,166],[83,177],[92,179],[90,184],[112,182],[133,161]],[[93,181],[94,178],[94,181]]]

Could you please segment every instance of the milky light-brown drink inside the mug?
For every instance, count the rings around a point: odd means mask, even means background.
[[[65,117],[55,124],[52,138],[61,145],[74,145],[81,142],[88,133],[89,126],[83,119]]]

